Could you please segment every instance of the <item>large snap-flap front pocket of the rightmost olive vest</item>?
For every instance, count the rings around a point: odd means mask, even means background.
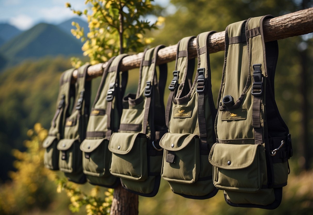
[[[263,145],[216,143],[209,162],[213,165],[213,184],[219,189],[252,193],[266,184]]]

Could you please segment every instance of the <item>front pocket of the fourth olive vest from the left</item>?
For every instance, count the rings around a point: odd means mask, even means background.
[[[114,176],[145,181],[148,177],[146,134],[113,133],[109,150],[112,152],[110,173]]]

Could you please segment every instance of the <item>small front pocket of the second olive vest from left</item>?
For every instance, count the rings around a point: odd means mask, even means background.
[[[77,139],[61,139],[57,145],[59,150],[59,169],[65,173],[82,171],[82,152]]]

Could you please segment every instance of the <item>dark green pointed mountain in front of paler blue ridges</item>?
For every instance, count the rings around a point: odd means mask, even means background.
[[[59,27],[40,23],[6,42],[0,47],[0,53],[12,65],[27,58],[46,55],[82,55],[81,46],[79,40],[64,33]]]

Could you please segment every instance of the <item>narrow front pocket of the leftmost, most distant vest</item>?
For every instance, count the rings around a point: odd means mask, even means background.
[[[59,170],[59,151],[57,149],[57,137],[48,136],[43,143],[44,166],[50,170]]]

